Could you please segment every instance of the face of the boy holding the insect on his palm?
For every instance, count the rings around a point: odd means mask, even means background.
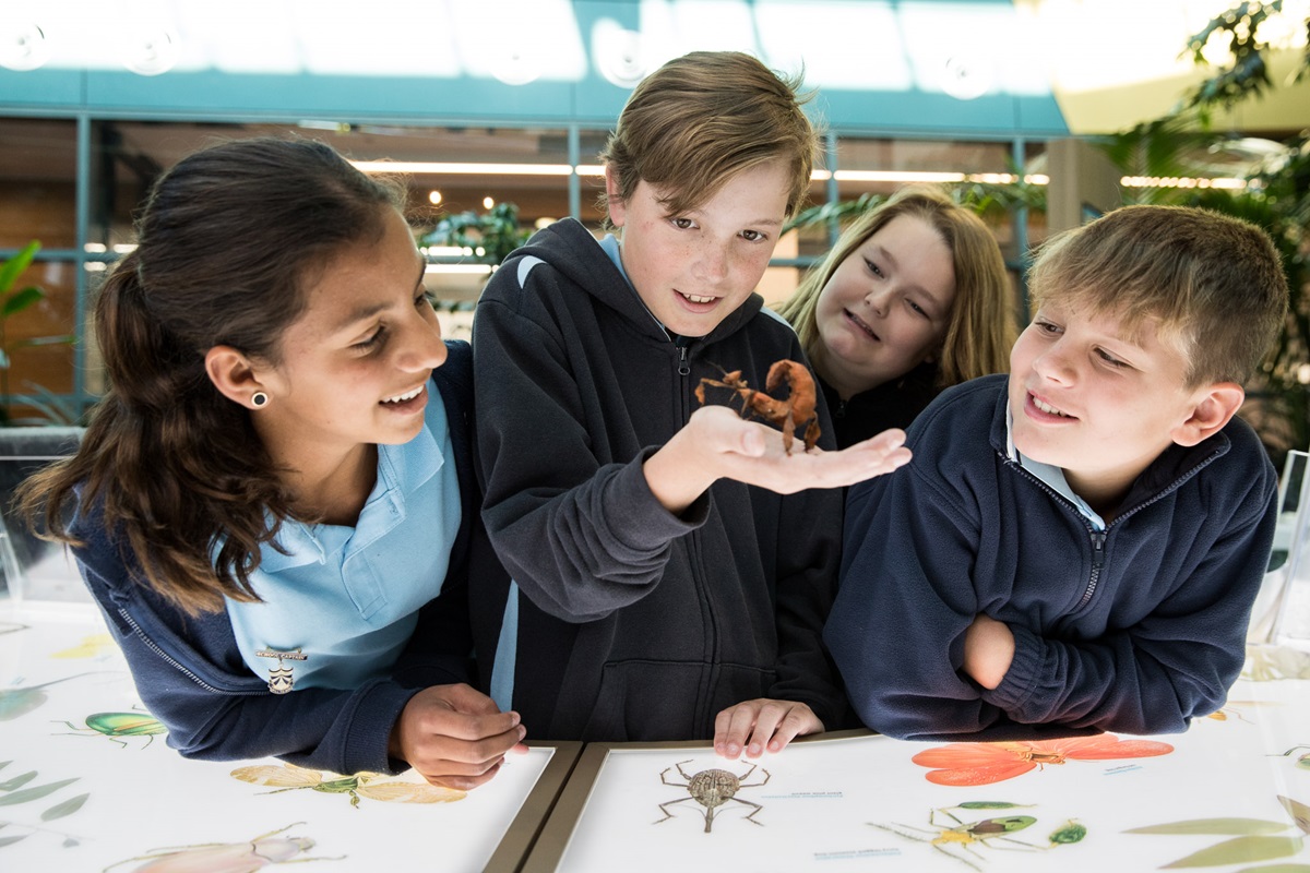
[[[681,215],[669,215],[646,182],[625,202],[608,169],[605,178],[624,270],[665,329],[705,336],[745,302],[782,232],[791,179],[783,161],[743,170]]]

